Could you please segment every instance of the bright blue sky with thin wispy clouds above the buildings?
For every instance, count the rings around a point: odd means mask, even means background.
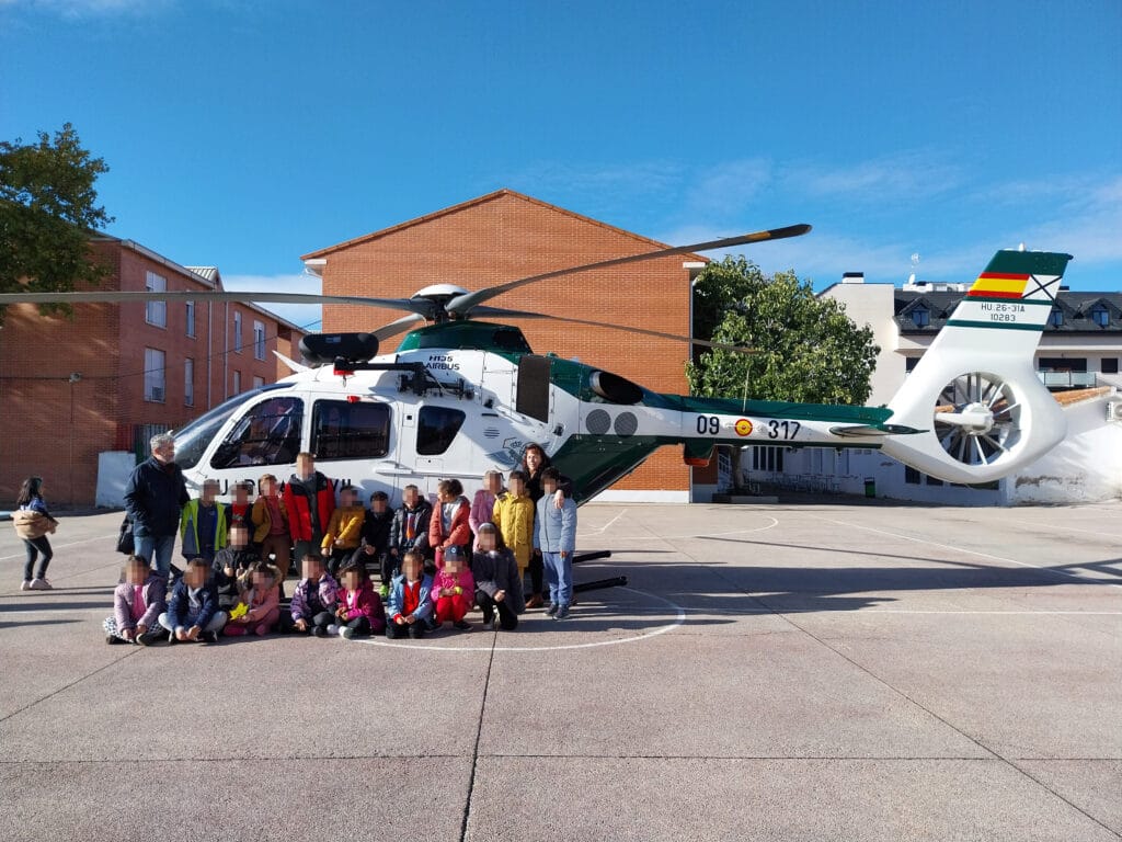
[[[1122,290],[1119,0],[0,0],[0,138],[65,121],[112,234],[238,289],[511,187],[675,245],[810,222],[746,254],[819,287],[1024,242]]]

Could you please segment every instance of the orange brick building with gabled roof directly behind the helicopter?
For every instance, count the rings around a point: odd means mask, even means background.
[[[571,266],[652,251],[663,244],[511,190],[499,190],[381,231],[304,255],[325,295],[408,298],[436,283],[478,290]],[[624,324],[678,336],[690,332],[690,282],[701,258],[674,255],[634,265],[561,275],[488,305]],[[374,330],[401,312],[327,305],[323,329]],[[496,321],[496,319],[489,319]],[[609,327],[549,320],[516,324],[537,354],[577,357],[656,392],[687,394],[689,347]],[[393,347],[390,340],[389,347]],[[605,495],[689,500],[681,449],[663,448]]]

